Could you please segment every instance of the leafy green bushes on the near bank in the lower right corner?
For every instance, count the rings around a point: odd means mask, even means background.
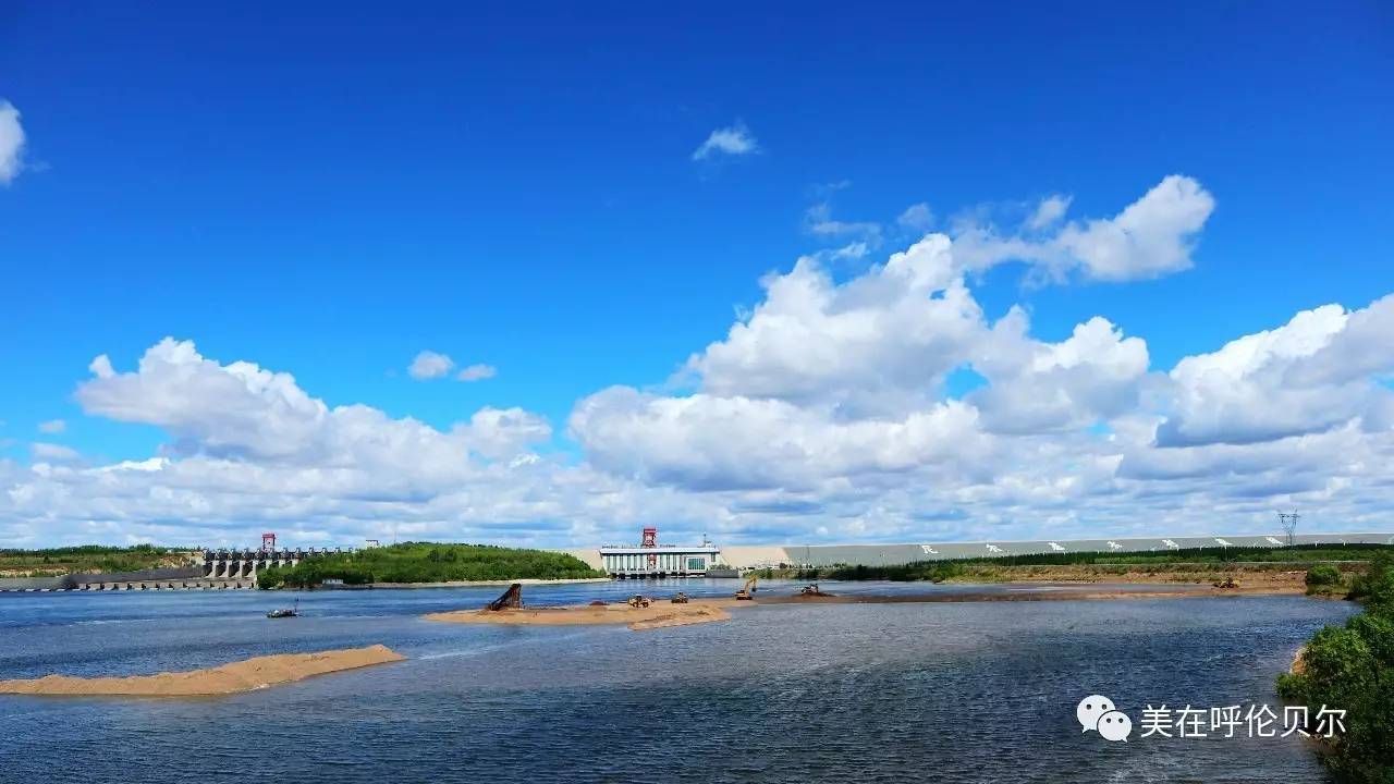
[[[1331,585],[1330,572],[1312,572],[1310,587]],[[1278,695],[1313,717],[1323,704],[1347,711],[1345,734],[1320,746],[1338,781],[1394,784],[1394,557],[1373,558],[1351,580],[1348,597],[1363,601],[1365,611],[1317,632],[1294,672],[1278,675]]]

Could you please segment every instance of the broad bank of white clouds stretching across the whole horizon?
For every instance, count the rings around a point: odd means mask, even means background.
[[[723,131],[703,149],[737,153]],[[1111,218],[1071,220],[1051,195],[1019,226],[960,220],[841,278],[829,266],[868,255],[868,232],[827,232],[857,247],[769,273],[673,378],[598,389],[560,434],[520,407],[447,430],[330,407],[290,372],[192,340],[166,338],[134,370],[103,354],[77,386],[82,410],[169,441],[138,462],[47,442],[28,466],[0,462],[0,540],[213,544],[270,526],[307,544],[566,545],[654,522],[726,543],[1238,533],[1316,504],[1344,529],[1380,527],[1394,296],[1302,311],[1172,368],[1101,317],[1048,342],[1023,307],[994,321],[974,297],[974,278],[1006,262],[1044,283],[1184,271],[1214,205],[1179,174]],[[923,204],[896,220],[933,222]],[[428,350],[408,372],[493,368]],[[956,392],[959,374],[979,384]]]

